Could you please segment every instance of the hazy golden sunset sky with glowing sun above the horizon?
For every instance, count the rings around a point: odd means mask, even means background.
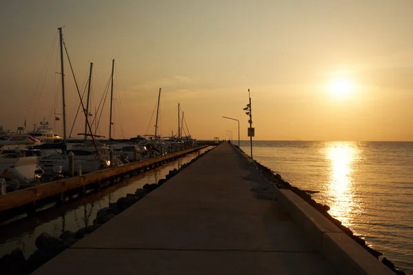
[[[112,137],[178,129],[192,137],[256,140],[413,141],[411,0],[1,0],[0,125],[43,118],[63,133],[59,38],[81,93],[92,71],[89,118],[100,111],[115,59]],[[65,58],[67,136],[84,114]],[[102,100],[103,101],[103,100]],[[54,113],[58,113],[55,115]],[[96,129],[96,124],[94,124]],[[185,128],[186,129],[186,128]],[[186,129],[187,131],[187,129]]]

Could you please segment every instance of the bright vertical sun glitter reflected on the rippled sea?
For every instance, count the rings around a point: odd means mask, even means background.
[[[354,142],[332,142],[326,144],[326,158],[329,162],[327,197],[330,214],[343,225],[352,224],[354,208],[354,163],[359,159],[359,149]]]

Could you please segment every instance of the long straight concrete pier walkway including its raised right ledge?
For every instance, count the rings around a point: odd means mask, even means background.
[[[222,143],[33,274],[393,274]]]

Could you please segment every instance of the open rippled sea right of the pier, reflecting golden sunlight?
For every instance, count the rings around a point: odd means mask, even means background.
[[[253,157],[413,274],[413,142],[257,141]]]

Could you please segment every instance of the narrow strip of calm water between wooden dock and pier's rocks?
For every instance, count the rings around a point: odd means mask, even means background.
[[[134,194],[137,188],[142,188],[145,184],[155,184],[159,179],[165,179],[169,170],[180,168],[182,164],[197,157],[198,153],[202,154],[211,148],[189,153],[153,170],[123,179],[119,184],[100,192],[65,203],[63,206],[41,210],[34,217],[23,217],[17,221],[3,223],[0,225],[0,257],[15,248],[21,248],[28,258],[36,250],[34,243],[42,232],[59,237],[65,230],[76,232],[85,226],[93,225],[99,209],[108,207],[109,203],[115,203],[118,198],[126,197],[128,193]]]

